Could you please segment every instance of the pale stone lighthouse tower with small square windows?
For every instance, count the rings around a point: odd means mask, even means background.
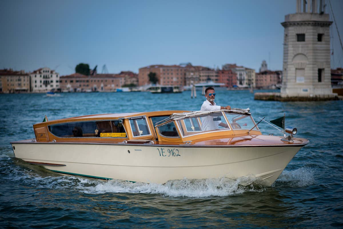
[[[287,14],[284,31],[281,98],[330,100],[329,14],[324,0],[297,0],[297,12]],[[302,98],[302,99],[301,99]]]

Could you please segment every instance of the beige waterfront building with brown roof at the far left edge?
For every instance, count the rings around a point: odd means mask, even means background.
[[[30,76],[24,70],[0,70],[0,93],[25,93],[30,91]]]

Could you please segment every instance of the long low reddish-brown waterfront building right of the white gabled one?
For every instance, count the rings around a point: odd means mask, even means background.
[[[74,73],[60,77],[60,88],[62,92],[116,91],[117,88],[121,88],[124,84],[124,75],[96,74],[85,76]]]

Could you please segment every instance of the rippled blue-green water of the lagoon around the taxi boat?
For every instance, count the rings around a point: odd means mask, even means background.
[[[272,187],[229,179],[166,184],[65,176],[14,158],[10,141],[34,137],[32,125],[100,113],[199,110],[178,94],[0,94],[0,228],[343,228],[343,101],[255,101],[248,91],[216,91],[218,105],[249,107],[256,121],[283,116],[302,148]],[[281,132],[260,123],[263,134]]]

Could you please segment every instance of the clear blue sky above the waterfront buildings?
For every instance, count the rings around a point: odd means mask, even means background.
[[[343,38],[343,1],[331,3]],[[0,69],[49,67],[62,76],[81,62],[98,65],[99,73],[103,65],[119,73],[191,62],[211,68],[236,63],[258,72],[266,60],[269,69],[281,70],[280,23],[295,12],[296,0],[1,0]],[[331,65],[343,67],[334,25],[331,31]]]

